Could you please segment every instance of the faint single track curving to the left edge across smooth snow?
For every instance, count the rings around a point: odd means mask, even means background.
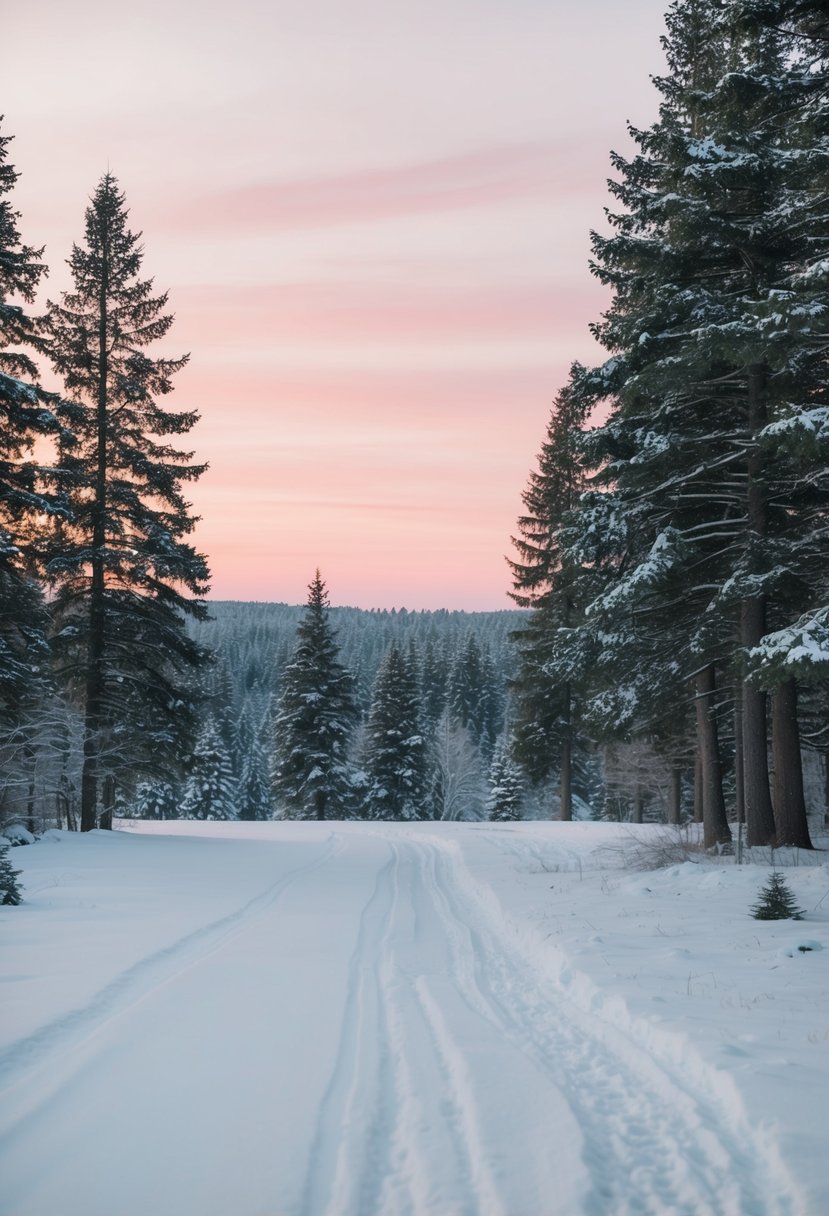
[[[19,1038],[0,1053],[0,1094],[17,1086],[29,1074],[91,1038],[112,1018],[137,1004],[162,984],[175,979],[188,967],[222,946],[229,938],[242,931],[258,916],[276,903],[299,878],[320,868],[342,849],[342,840],[332,833],[322,854],[255,895],[247,903],[226,916],[202,925],[176,941],[153,951],[122,972],[105,987],[71,1013]],[[19,1116],[18,1116],[19,1118]]]

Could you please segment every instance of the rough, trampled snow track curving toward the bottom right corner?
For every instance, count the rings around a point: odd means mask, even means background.
[[[583,1216],[794,1216],[800,1210],[767,1169],[765,1147],[750,1127],[735,1126],[715,1094],[574,1007],[521,958],[476,897],[455,851],[422,837],[417,845],[427,855],[424,874],[468,1001],[548,1074],[577,1116],[593,1181]]]

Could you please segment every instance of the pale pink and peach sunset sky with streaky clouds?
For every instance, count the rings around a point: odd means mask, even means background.
[[[4,133],[47,294],[107,167],[191,353],[216,598],[506,608],[549,406],[604,294],[611,147],[664,0],[29,0]]]

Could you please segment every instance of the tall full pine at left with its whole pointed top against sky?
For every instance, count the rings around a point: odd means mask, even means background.
[[[182,496],[204,466],[169,443],[198,415],[157,401],[186,359],[146,353],[173,317],[141,261],[107,173],[69,259],[74,289],[50,302],[47,319],[50,355],[77,406],[72,443],[61,444],[73,518],[47,569],[58,675],[84,715],[81,831],[97,823],[107,777],[129,784],[159,758],[174,764],[205,658],[185,630],[186,617],[205,615],[208,569],[186,539],[194,519]]]

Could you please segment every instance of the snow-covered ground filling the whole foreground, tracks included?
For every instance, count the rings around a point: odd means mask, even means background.
[[[829,1212],[823,855],[761,922],[659,828],[124,827],[12,851],[4,1216]]]

